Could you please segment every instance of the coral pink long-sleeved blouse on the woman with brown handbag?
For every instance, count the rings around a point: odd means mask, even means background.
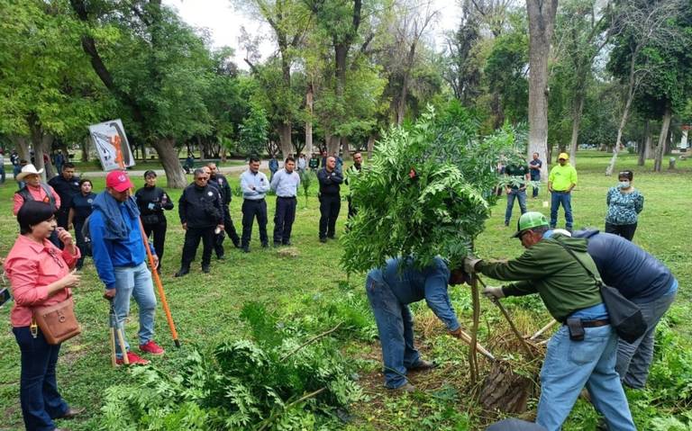
[[[5,273],[12,284],[14,307],[10,321],[14,328],[28,327],[32,323],[32,307],[42,307],[65,301],[69,289],[62,289],[48,295],[48,285],[57,282],[77,265],[81,256],[71,255],[68,248],[60,250],[48,239],[43,245],[20,235],[14,247],[5,258]]]

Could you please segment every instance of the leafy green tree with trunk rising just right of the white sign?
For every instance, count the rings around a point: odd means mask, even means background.
[[[156,149],[168,187],[185,187],[176,146],[211,129],[204,94],[214,63],[205,41],[160,0],[70,4],[85,24],[82,48],[131,117],[132,135]]]

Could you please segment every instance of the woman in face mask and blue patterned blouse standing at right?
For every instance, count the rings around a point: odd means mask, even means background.
[[[637,229],[637,217],[644,208],[644,196],[632,186],[634,174],[623,171],[617,178],[616,187],[608,189],[605,202],[608,213],[605,216],[605,232],[619,235],[632,241]]]

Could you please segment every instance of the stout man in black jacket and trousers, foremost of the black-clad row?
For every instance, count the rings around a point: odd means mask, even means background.
[[[185,244],[180,270],[176,277],[190,272],[190,264],[195,260],[199,240],[202,239],[202,272],[209,273],[214,247],[214,232],[223,230],[223,211],[221,196],[209,186],[209,175],[205,169],[195,169],[195,183],[188,185],[178,201],[178,214],[185,230]]]

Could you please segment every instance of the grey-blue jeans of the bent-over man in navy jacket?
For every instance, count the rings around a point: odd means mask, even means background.
[[[623,383],[630,388],[642,389],[646,384],[653,358],[653,337],[656,334],[656,325],[675,301],[676,294],[677,290],[669,292],[655,301],[637,303],[642,309],[642,315],[648,329],[633,344],[622,339],[617,343],[615,371],[620,374]]]

